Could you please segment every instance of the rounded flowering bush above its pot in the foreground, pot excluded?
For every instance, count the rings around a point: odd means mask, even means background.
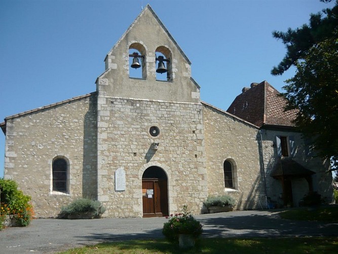
[[[169,221],[163,225],[162,233],[171,242],[177,242],[179,234],[190,234],[195,238],[202,234],[200,221],[191,215],[186,205],[183,206],[182,213],[170,214],[166,218]]]

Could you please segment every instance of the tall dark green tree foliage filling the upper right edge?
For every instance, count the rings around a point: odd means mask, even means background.
[[[281,75],[291,66],[294,77],[286,80],[281,93],[285,110],[298,109],[295,125],[312,142],[316,154],[338,167],[338,0],[332,9],[311,14],[310,24],[273,32],[287,52],[271,71]]]

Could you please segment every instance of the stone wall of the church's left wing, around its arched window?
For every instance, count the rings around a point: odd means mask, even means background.
[[[96,95],[7,118],[5,178],[31,196],[36,217],[96,198]],[[52,192],[52,161],[69,162],[69,194]]]

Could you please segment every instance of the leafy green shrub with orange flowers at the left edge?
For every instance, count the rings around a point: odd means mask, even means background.
[[[0,215],[15,214],[19,226],[25,227],[33,218],[33,207],[29,204],[30,196],[24,195],[17,189],[18,184],[13,180],[0,179],[1,204]]]

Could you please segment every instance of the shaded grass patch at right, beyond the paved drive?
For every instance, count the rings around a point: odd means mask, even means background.
[[[323,206],[314,209],[298,208],[280,212],[283,219],[318,220],[338,223],[338,206]]]

